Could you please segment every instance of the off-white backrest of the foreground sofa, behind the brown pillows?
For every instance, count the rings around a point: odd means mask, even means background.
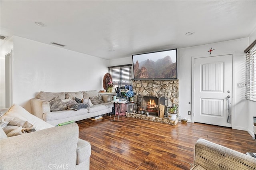
[[[8,117],[15,117],[18,119],[22,119],[25,121],[28,121],[30,124],[32,124],[35,128],[35,130],[42,130],[45,128],[50,128],[53,127],[49,123],[46,123],[42,121],[42,119],[30,114],[26,109],[19,105],[12,105],[10,107],[9,111],[4,114],[4,116],[0,117],[0,120],[3,119],[5,116]]]

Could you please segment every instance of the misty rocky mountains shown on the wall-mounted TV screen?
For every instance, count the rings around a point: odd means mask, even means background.
[[[164,58],[152,61],[146,59],[140,63],[136,60],[134,65],[135,79],[176,79],[176,62],[167,55]]]

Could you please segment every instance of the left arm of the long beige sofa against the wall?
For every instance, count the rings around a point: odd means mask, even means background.
[[[43,120],[43,114],[50,112],[50,103],[41,99],[30,99],[32,114]]]

